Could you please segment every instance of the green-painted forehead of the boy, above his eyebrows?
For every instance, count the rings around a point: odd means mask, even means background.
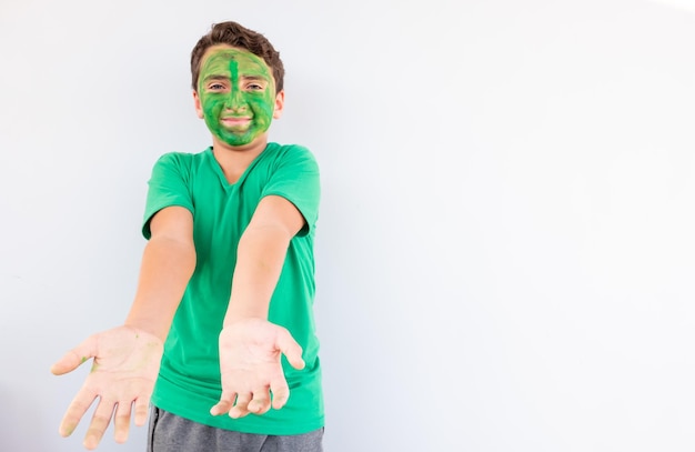
[[[198,84],[205,79],[260,78],[273,82],[270,68],[262,58],[248,50],[230,47],[212,47],[208,50],[200,68]]]

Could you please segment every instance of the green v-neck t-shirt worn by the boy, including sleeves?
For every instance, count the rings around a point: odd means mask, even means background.
[[[289,435],[323,426],[319,340],[315,334],[314,229],[319,215],[319,167],[300,145],[269,143],[236,183],[230,184],[212,148],[200,153],[167,153],[149,182],[142,233],[159,210],[180,205],[193,214],[197,265],[164,343],[152,395],[158,408],[182,418],[244,433]],[[282,359],[290,399],[281,410],[241,419],[213,416],[219,401],[218,337],[230,299],[236,245],[259,201],[270,194],[291,201],[306,227],[292,239],[273,292],[269,321],[285,327],[303,348],[306,366]]]

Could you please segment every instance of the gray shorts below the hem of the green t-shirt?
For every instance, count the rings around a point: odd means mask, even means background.
[[[240,433],[189,421],[152,406],[148,452],[323,452],[323,429],[273,436]]]

